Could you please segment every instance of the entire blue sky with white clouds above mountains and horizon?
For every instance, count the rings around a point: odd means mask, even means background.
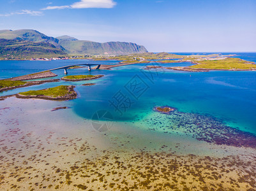
[[[256,52],[255,0],[1,0],[0,29],[128,41],[150,52]]]

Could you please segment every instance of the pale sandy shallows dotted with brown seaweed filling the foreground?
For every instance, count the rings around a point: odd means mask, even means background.
[[[51,111],[72,108],[68,101],[10,97],[0,104],[0,190],[256,188],[255,147],[246,136],[236,145],[236,131],[193,121],[212,118],[175,113],[170,128],[157,113],[98,132],[72,109]],[[226,142],[213,136],[223,131]]]

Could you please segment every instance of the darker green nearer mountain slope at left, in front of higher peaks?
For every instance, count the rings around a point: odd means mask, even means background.
[[[22,59],[59,56],[66,56],[66,53],[50,43],[34,43],[21,39],[0,39],[0,57]]]

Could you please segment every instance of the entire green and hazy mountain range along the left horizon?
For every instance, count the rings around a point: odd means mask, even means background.
[[[0,57],[63,57],[67,55],[125,55],[147,52],[144,46],[126,42],[97,43],[59,36],[47,36],[41,32],[0,30]]]

